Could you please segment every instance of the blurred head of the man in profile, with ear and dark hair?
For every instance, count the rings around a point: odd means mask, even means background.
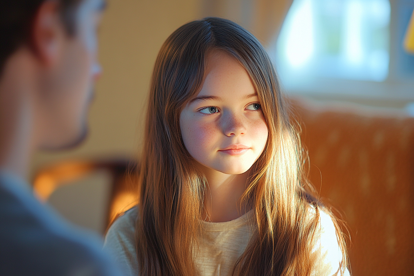
[[[22,74],[13,64],[16,60],[26,62],[24,70],[19,70],[31,85],[28,98],[38,147],[68,147],[86,133],[87,110],[100,74],[96,28],[104,3],[0,2],[0,83],[10,75]]]

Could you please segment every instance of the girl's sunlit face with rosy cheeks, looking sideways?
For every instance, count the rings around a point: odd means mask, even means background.
[[[262,154],[267,125],[259,98],[244,67],[231,55],[213,50],[198,95],[180,116],[183,142],[205,169],[245,173]]]

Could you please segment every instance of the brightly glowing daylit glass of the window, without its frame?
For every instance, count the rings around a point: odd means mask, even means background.
[[[274,59],[282,83],[307,79],[382,82],[390,60],[388,0],[294,0]]]

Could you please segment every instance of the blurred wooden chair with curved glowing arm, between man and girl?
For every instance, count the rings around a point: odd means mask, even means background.
[[[137,168],[128,160],[61,162],[36,173],[34,193],[73,223],[103,234],[137,203]]]

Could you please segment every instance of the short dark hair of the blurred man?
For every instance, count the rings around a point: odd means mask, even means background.
[[[0,1],[0,75],[7,58],[30,43],[34,16],[45,0]],[[60,14],[68,35],[75,34],[75,13],[82,0],[59,0]]]

